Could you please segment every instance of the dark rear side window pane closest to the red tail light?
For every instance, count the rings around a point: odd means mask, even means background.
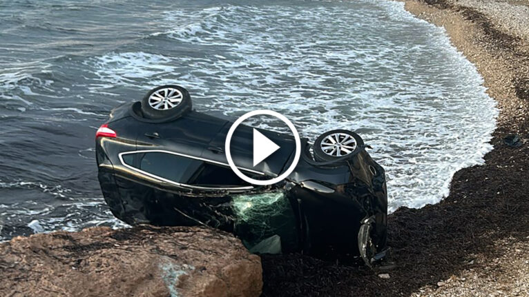
[[[204,163],[164,152],[124,154],[122,159],[126,165],[176,183],[189,183],[189,179]]]

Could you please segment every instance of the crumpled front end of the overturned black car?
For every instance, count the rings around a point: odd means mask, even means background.
[[[361,256],[368,265],[383,258],[387,249],[383,167],[365,150],[340,163],[313,166],[307,174],[294,176],[298,181],[289,191],[302,250],[320,258]],[[345,179],[333,175],[344,171]]]

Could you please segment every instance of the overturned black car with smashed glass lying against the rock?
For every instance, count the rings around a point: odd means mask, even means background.
[[[112,213],[131,225],[222,229],[256,253],[362,256],[368,265],[383,258],[385,173],[358,134],[325,132],[314,145],[302,139],[294,172],[273,185],[252,185],[227,162],[232,124],[192,110],[178,85],[117,107],[96,135],[99,183]],[[294,137],[259,129],[280,149],[253,166],[252,130],[239,125],[231,138],[238,169],[255,179],[280,175],[293,162]]]

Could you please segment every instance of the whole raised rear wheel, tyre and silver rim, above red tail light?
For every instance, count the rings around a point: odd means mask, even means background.
[[[162,85],[142,99],[142,113],[147,119],[175,118],[191,110],[191,96],[180,85]]]

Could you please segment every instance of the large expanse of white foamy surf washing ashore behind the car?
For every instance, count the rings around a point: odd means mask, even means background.
[[[481,76],[443,29],[403,3],[182,9],[165,23],[156,38],[197,50],[95,57],[86,61],[99,81],[90,87],[178,82],[198,110],[276,110],[312,140],[358,130],[387,170],[390,210],[438,202],[454,172],[492,148],[497,109]]]

